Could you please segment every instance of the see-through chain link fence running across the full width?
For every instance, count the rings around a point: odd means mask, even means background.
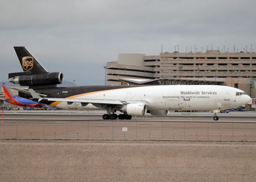
[[[0,125],[0,139],[256,141],[256,123],[16,121]]]

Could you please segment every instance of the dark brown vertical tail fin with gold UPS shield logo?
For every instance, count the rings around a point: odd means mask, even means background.
[[[24,72],[32,74],[47,73],[47,70],[36,60],[26,47],[14,47]]]

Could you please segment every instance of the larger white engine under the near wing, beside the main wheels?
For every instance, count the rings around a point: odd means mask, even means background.
[[[147,112],[147,106],[143,103],[127,104],[120,108],[120,112],[129,115],[145,115]]]

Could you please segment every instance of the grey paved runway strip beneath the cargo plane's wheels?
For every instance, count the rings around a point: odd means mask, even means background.
[[[255,112],[230,112],[218,114],[219,120],[214,121],[213,113],[210,112],[170,112],[167,116],[134,116],[131,120],[113,120],[115,122],[236,122],[236,123],[251,123],[256,122]],[[102,119],[102,113],[82,113],[82,112],[65,112],[65,111],[26,111],[26,112],[5,112],[5,121],[95,121],[95,122],[108,122],[112,120]]]

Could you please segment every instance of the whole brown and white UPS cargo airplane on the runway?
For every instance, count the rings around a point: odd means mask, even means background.
[[[168,115],[170,110],[213,111],[236,108],[251,101],[244,91],[218,85],[69,86],[61,72],[48,72],[25,47],[14,47],[24,72],[9,73],[10,82],[29,86],[19,96],[62,109],[106,110],[103,119],[131,119],[132,115]],[[116,114],[120,111],[123,114]]]

